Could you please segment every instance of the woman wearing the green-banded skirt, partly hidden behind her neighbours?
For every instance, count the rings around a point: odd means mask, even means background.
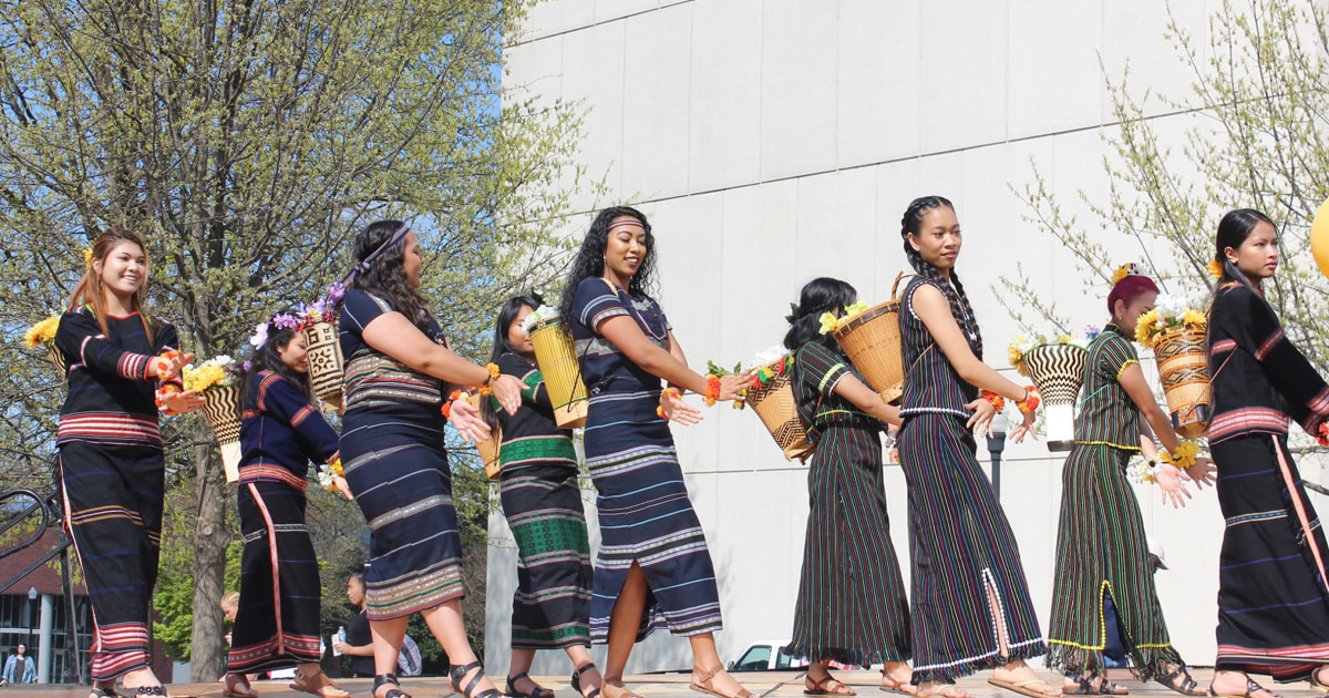
[[[517,592],[512,601],[512,663],[508,695],[553,698],[528,675],[536,650],[562,649],[573,661],[573,687],[599,693],[590,658],[590,541],[577,483],[571,435],[558,428],[536,347],[524,322],[538,302],[518,295],[498,312],[490,362],[521,382],[521,408],[508,416],[481,404],[502,427],[498,492],[508,526],[517,538]],[[585,678],[585,679],[583,679]]]

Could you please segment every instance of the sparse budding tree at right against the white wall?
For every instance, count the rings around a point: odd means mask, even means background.
[[[1322,4],[1305,0],[1225,1],[1209,17],[1205,41],[1175,19],[1167,37],[1193,70],[1193,101],[1146,93],[1132,97],[1127,76],[1110,80],[1118,122],[1107,140],[1106,198],[1080,191],[1092,214],[1070,215],[1035,169],[1022,191],[1030,219],[1061,241],[1086,275],[1107,281],[1123,259],[1108,253],[1099,230],[1136,238],[1142,250],[1170,250],[1151,259],[1172,291],[1208,289],[1205,265],[1213,257],[1213,233],[1224,211],[1253,207],[1282,231],[1282,262],[1268,298],[1289,336],[1321,372],[1329,368],[1329,283],[1310,255],[1308,241],[1316,210],[1329,195],[1329,23]],[[1146,117],[1148,100],[1191,112],[1180,144],[1160,138]],[[1199,106],[1199,109],[1195,109]],[[1179,118],[1176,116],[1171,118]],[[1091,234],[1091,229],[1094,234]],[[1075,327],[1054,303],[1038,296],[1023,271],[1002,279],[1014,291],[1007,308]],[[999,294],[998,294],[999,295]]]

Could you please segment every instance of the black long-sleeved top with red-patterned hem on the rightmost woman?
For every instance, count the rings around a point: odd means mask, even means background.
[[[1282,334],[1273,308],[1241,283],[1219,289],[1209,308],[1209,443],[1248,433],[1288,435],[1289,417],[1318,436],[1329,387]]]

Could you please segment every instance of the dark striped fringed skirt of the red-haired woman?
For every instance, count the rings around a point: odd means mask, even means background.
[[[1168,640],[1144,519],[1126,480],[1130,457],[1120,448],[1076,444],[1062,469],[1047,666],[1067,675],[1103,671],[1107,596],[1116,608],[1122,645],[1142,681],[1167,674],[1167,665],[1183,663]]]

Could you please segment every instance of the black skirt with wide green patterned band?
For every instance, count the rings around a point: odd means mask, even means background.
[[[517,538],[513,649],[590,645],[590,542],[577,468],[505,469],[504,516]]]

